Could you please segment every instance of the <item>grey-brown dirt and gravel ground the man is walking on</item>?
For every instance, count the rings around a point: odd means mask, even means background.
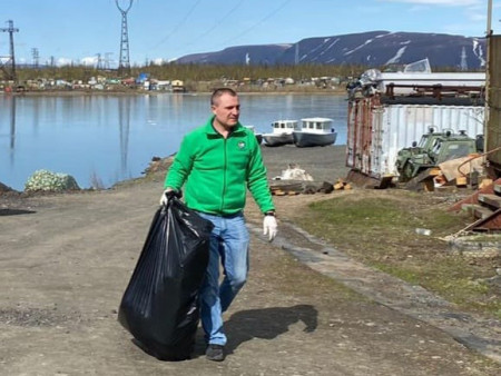
[[[267,159],[268,152],[275,157]],[[330,152],[284,149],[281,156],[307,171],[308,164],[316,166],[318,179],[326,179],[340,159],[330,161]],[[276,151],[266,150],[265,158],[269,176],[286,167]],[[344,175],[335,171],[335,177]],[[10,215],[0,216],[1,375],[499,374],[499,364],[442,329],[305,266],[286,249],[285,240],[289,248],[305,247],[285,227],[275,244],[263,241],[253,205],[246,210],[253,234],[250,276],[225,316],[226,362],[205,359],[202,336],[190,360],[151,358],[117,323],[117,308],[161,185],[158,175],[102,192],[31,198],[3,211]],[[303,196],[301,202],[315,196]],[[299,209],[299,198],[294,199],[294,207],[277,200],[283,220],[286,208]]]

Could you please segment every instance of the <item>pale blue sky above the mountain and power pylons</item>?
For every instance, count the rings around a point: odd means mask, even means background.
[[[118,1],[118,3],[117,3]],[[489,0],[0,0],[17,63],[118,67],[122,20],[129,62],[160,63],[246,44],[374,30],[485,37]],[[130,7],[130,8],[129,8]],[[128,10],[127,10],[128,9]],[[491,30],[501,33],[501,0],[492,0]],[[38,59],[33,56],[38,52]],[[10,55],[0,32],[0,58]]]

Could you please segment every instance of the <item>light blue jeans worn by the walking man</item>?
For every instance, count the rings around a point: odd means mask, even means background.
[[[247,279],[249,235],[242,212],[229,217],[199,215],[214,224],[209,263],[200,289],[202,326],[208,344],[226,345],[222,315]],[[219,263],[224,271],[220,284]]]

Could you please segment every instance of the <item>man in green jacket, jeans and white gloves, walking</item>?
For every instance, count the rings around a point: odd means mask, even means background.
[[[266,169],[255,135],[238,122],[237,93],[216,89],[210,97],[213,116],[183,139],[166,176],[160,202],[180,192],[185,202],[214,224],[205,281],[200,289],[200,319],[210,360],[225,358],[223,313],[244,286],[248,271],[249,235],[243,209],[246,188],[264,214],[263,230],[272,241],[277,231]],[[224,278],[219,284],[219,263]]]

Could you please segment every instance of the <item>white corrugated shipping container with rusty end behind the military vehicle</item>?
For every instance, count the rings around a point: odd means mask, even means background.
[[[346,166],[369,177],[397,176],[400,149],[435,131],[483,133],[483,106],[381,105],[376,97],[350,102]]]

